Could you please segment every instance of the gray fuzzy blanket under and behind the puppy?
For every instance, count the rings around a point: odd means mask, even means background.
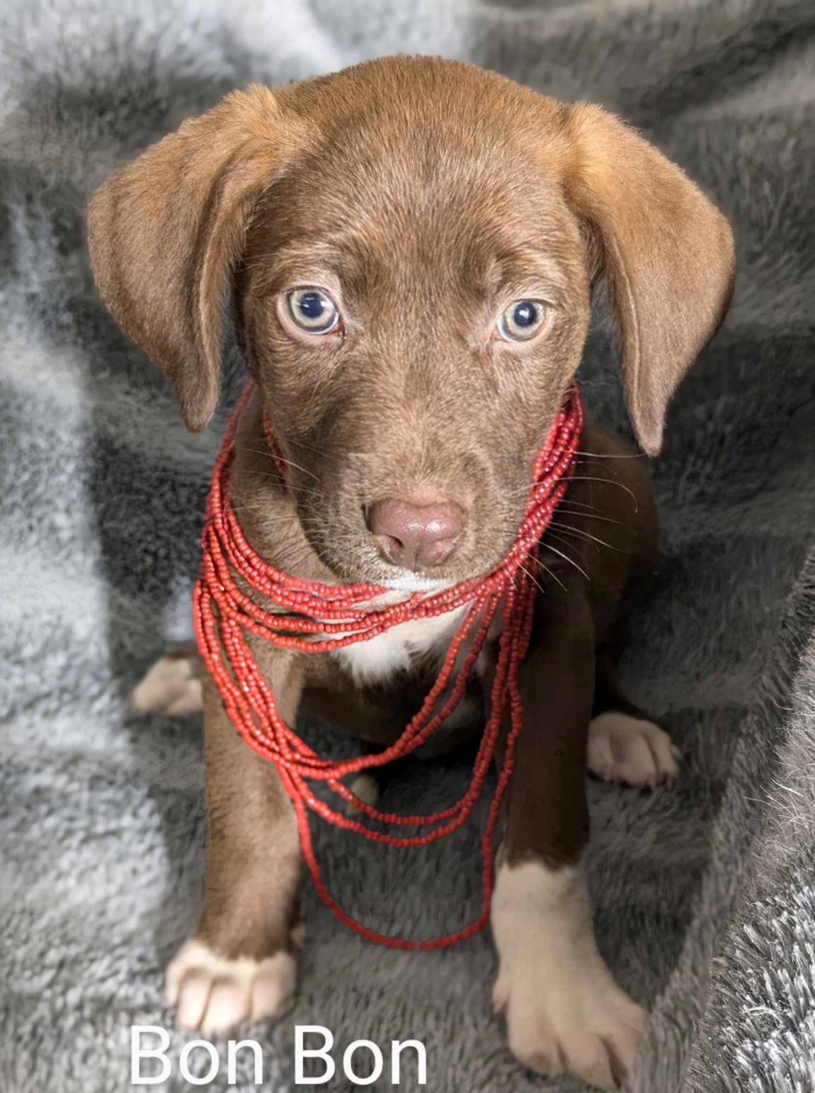
[[[169,1026],[162,971],[202,892],[200,725],[130,718],[126,702],[189,633],[209,468],[240,364],[231,352],[218,420],[189,436],[96,295],[86,200],[231,87],[397,51],[603,103],[733,220],[735,302],[671,411],[654,468],[663,562],[625,662],[633,696],[686,759],[673,792],[591,787],[591,883],[601,947],[653,1014],[634,1089],[813,1090],[815,5],[5,0],[0,1093],[129,1089],[130,1026]],[[582,377],[593,412],[627,428],[602,325]],[[449,801],[465,775],[416,764],[388,802]],[[430,933],[477,906],[474,828],[425,855],[377,856],[322,828],[318,846],[342,903],[381,927]],[[433,1093],[581,1088],[507,1051],[487,937],[400,954],[344,931],[308,886],[304,909],[296,1003],[246,1033],[263,1047],[264,1089],[294,1088],[296,1023],[338,1044],[423,1041]],[[164,1090],[190,1088],[186,1039],[173,1036]],[[401,1088],[417,1088],[406,1071]],[[247,1065],[237,1079],[255,1088]],[[209,1088],[226,1083],[224,1066]]]

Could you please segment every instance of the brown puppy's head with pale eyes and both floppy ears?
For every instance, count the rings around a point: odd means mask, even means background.
[[[341,579],[402,587],[508,549],[595,278],[655,454],[733,277],[725,220],[616,118],[432,58],[229,95],[102,187],[88,238],[192,430],[232,286],[314,548]]]

